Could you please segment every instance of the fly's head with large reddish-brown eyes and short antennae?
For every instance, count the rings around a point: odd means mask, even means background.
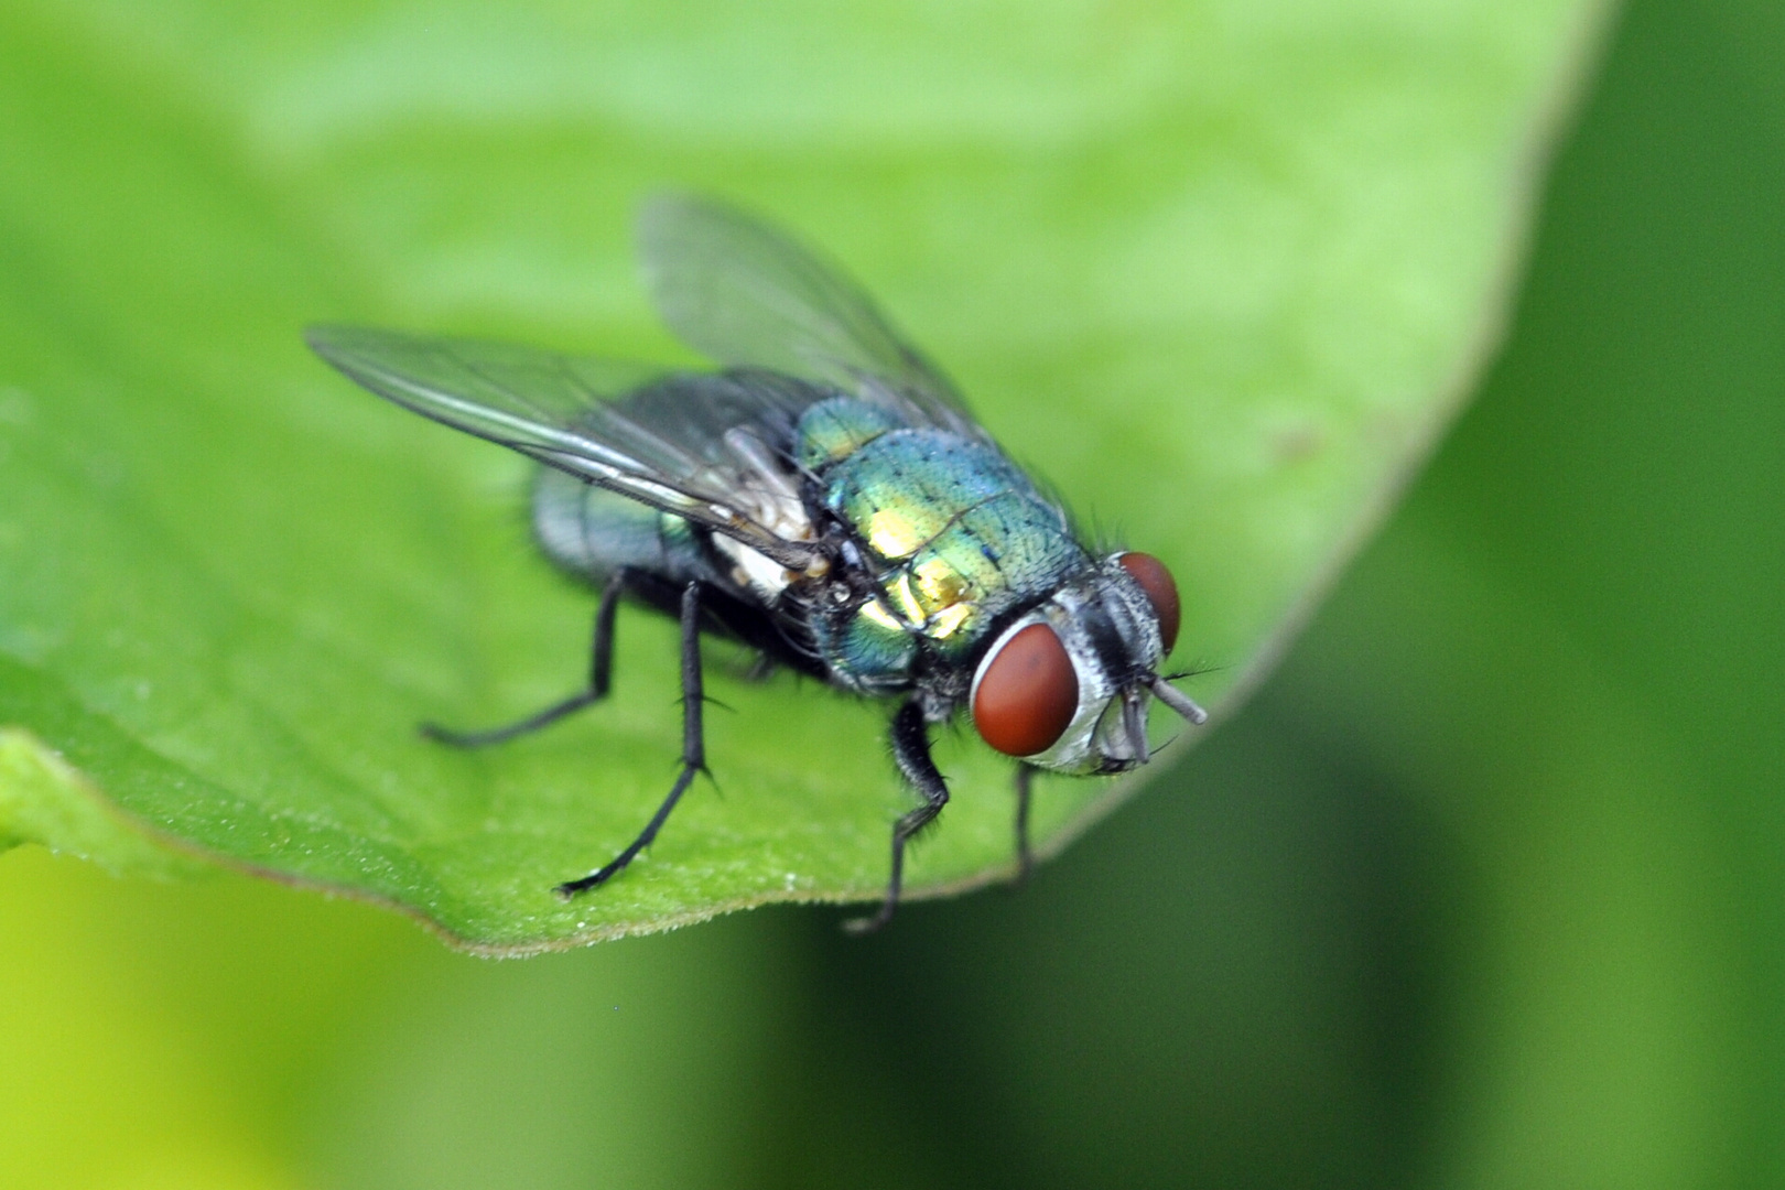
[[[1158,676],[1178,637],[1178,585],[1158,558],[1117,553],[992,640],[973,674],[980,737],[1025,764],[1126,773],[1146,764],[1148,699],[1207,715]]]

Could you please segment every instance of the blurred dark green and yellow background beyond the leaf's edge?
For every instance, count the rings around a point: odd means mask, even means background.
[[[1785,1181],[1785,11],[1630,5],[1507,350],[1010,894],[528,962],[0,858],[5,1186]]]

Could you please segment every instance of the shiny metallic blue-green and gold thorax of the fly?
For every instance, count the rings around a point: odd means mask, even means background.
[[[796,450],[880,587],[821,632],[844,676],[903,678],[919,648],[960,657],[1091,564],[1062,512],[992,446],[894,428],[880,409],[834,398],[800,419]]]

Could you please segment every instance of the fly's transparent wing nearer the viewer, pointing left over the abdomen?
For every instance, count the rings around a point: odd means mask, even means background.
[[[803,569],[818,553],[793,533],[798,498],[789,507],[775,451],[821,396],[798,380],[734,371],[644,382],[652,371],[635,364],[362,326],[312,326],[305,339],[352,380],[425,417],[705,525],[782,566]]]

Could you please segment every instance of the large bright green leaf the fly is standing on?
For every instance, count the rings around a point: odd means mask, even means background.
[[[569,692],[593,598],[532,555],[523,460],[352,389],[300,328],[685,359],[630,211],[662,184],[743,200],[1173,566],[1180,660],[1230,707],[1492,346],[1599,12],[14,5],[0,839],[129,871],[177,839],[500,953],[878,896],[909,805],[885,708],[714,649],[719,792],[555,901],[673,776],[673,626],[623,614],[616,698],[578,723],[418,739]],[[1010,864],[1007,765],[971,731],[939,762],[955,801],[914,892]],[[1044,781],[1037,839],[1133,787]]]

